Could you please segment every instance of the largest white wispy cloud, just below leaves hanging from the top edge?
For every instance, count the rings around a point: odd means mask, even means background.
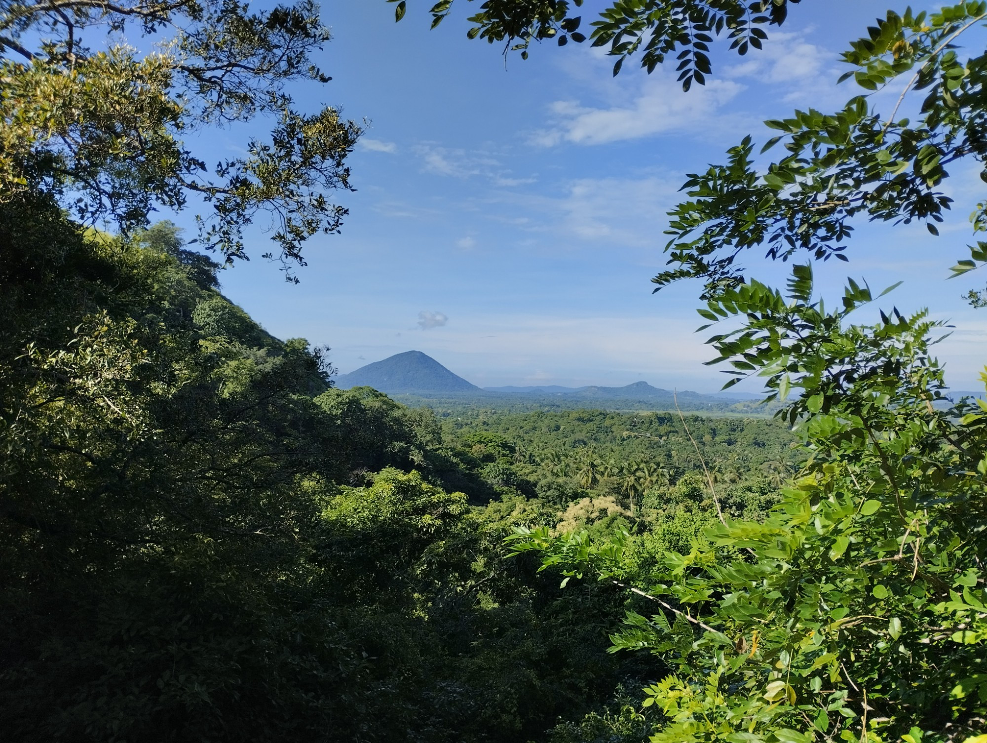
[[[577,101],[552,103],[551,126],[535,132],[531,143],[546,147],[564,141],[605,144],[710,128],[718,110],[743,90],[730,80],[712,80],[683,93],[681,84],[662,71],[637,74],[636,80],[640,80],[638,89],[626,91],[625,104],[593,108]]]

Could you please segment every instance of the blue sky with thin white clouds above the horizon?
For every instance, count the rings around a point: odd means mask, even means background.
[[[710,84],[685,95],[661,70],[628,63],[613,78],[611,61],[587,44],[505,60],[499,47],[467,41],[459,2],[431,32],[428,3],[417,0],[400,24],[382,0],[324,6],[335,39],[318,61],[334,81],[294,95],[304,108],[338,105],[370,121],[350,160],[358,191],[337,195],[350,214],[342,235],[310,241],[297,286],[260,258],[266,236],[252,229],[255,260],[224,272],[223,290],[271,333],[331,346],[342,372],[415,349],[482,386],[645,379],[718,389],[725,377],[702,365],[713,354],[693,332],[699,287],[651,294],[665,211],[687,172],[721,162],[746,133],[764,141],[764,119],[854,95],[835,85],[838,52],[888,6],[804,2],[762,52],[718,54]],[[584,19],[598,7],[587,2]],[[200,144],[233,154],[244,133]],[[942,237],[861,225],[851,263],[818,269],[830,290],[848,273],[876,288],[904,281],[883,305],[950,318],[956,330],[940,358],[965,389],[979,386],[987,361],[987,310],[959,294],[983,277],[945,279],[965,257],[966,215],[982,187],[972,170],[953,173],[957,205]],[[785,267],[756,254],[746,265],[783,281]]]

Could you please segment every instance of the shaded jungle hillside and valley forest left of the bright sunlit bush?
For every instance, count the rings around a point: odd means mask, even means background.
[[[443,432],[427,408],[332,388],[324,352],[266,334],[174,226],[65,229],[52,260],[57,216],[3,222],[22,270],[0,331],[11,736],[524,741],[646,678],[606,653],[626,597],[562,591],[501,540],[667,511],[687,544],[710,493],[681,422]],[[763,512],[785,427],[690,420],[721,441],[738,507]]]

